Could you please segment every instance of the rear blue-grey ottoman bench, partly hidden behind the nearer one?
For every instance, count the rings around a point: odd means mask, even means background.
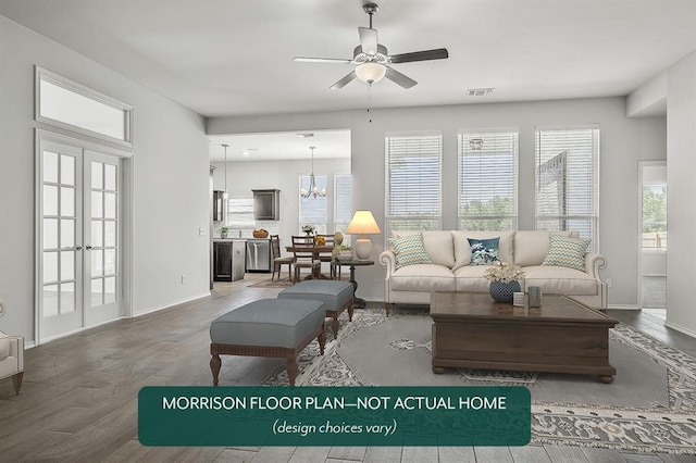
[[[338,315],[348,309],[348,320],[352,321],[353,286],[350,281],[333,279],[307,279],[285,288],[278,299],[315,299],[324,303],[326,316],[332,317],[334,339],[338,336]]]

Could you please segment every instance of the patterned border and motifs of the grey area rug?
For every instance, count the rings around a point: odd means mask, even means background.
[[[352,336],[377,324],[427,317],[425,312],[394,311],[386,317],[384,310],[356,311],[352,322],[346,314],[340,320],[337,340],[330,333],[326,351],[319,355],[319,346],[312,342],[298,359],[302,386],[369,386],[373,385],[360,368],[341,356],[341,346]],[[331,329],[330,329],[331,331]],[[667,371],[664,401],[639,402],[641,406],[576,403],[573,397],[562,401],[532,402],[532,441],[536,443],[599,447],[645,452],[671,452],[696,454],[696,359],[660,341],[619,324],[610,331],[610,340],[646,355]],[[410,339],[386,339],[390,349],[412,350],[430,354],[430,342]],[[624,368],[625,370],[625,368]],[[447,377],[465,385],[524,385],[535,397],[534,388],[543,383],[544,374],[490,372],[458,368],[457,375],[430,375]],[[567,375],[569,381],[576,376]],[[287,385],[283,364],[263,384]],[[427,384],[431,386],[434,384]],[[616,386],[616,381],[613,384]],[[601,385],[609,386],[612,385]],[[664,402],[664,403],[661,403]]]

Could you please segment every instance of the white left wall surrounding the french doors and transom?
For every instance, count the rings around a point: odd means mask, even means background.
[[[203,118],[0,16],[0,329],[34,340],[34,129],[50,129],[34,121],[34,65],[135,107],[135,312],[207,295]]]

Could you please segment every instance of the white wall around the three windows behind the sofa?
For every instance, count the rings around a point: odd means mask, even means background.
[[[374,91],[378,91],[378,86]],[[626,118],[624,98],[548,102],[468,104],[333,113],[211,118],[210,135],[250,132],[351,129],[353,209],[370,209],[384,224],[384,134],[438,129],[444,136],[444,228],[457,226],[457,132],[461,128],[518,127],[520,130],[520,229],[534,228],[534,126],[599,123],[601,128],[599,248],[612,279],[609,304],[637,306],[637,162],[664,157],[664,118]],[[662,146],[662,148],[660,148]],[[662,157],[662,158],[660,158]],[[384,237],[373,237],[373,259]],[[360,296],[383,300],[380,265],[357,272]]]

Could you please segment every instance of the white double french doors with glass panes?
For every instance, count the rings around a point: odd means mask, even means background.
[[[39,140],[38,339],[120,316],[120,158]]]

